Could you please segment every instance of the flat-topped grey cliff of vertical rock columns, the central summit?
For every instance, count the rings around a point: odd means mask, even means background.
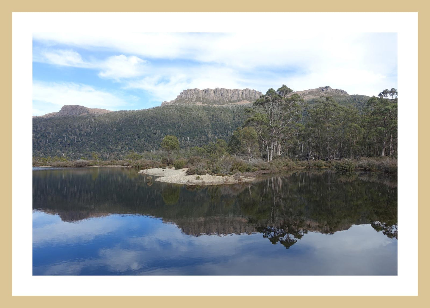
[[[249,88],[240,89],[187,89],[182,91],[177,98],[172,101],[164,101],[164,105],[189,104],[197,105],[225,105],[225,104],[250,104],[260,98],[263,93]]]

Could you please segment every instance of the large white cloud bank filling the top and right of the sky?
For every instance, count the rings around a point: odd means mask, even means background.
[[[134,78],[124,87],[141,88],[160,101],[193,87],[267,91],[285,83],[297,91],[330,85],[376,95],[397,86],[396,34],[35,33],[34,40],[95,54],[101,48],[123,53],[93,64],[99,76]],[[68,58],[82,65],[79,57]]]

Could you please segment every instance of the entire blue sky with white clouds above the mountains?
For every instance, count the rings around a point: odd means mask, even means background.
[[[34,33],[33,115],[139,110],[189,88],[397,88],[397,34]]]

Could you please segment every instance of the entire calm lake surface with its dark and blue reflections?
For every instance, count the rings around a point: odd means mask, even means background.
[[[33,169],[34,275],[396,275],[397,178],[294,171],[195,187]]]

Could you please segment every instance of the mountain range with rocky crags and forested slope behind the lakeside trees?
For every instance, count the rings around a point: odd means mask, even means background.
[[[330,95],[339,104],[352,104],[359,110],[370,98],[348,95],[346,91],[330,87],[294,93],[309,104]],[[178,137],[183,149],[203,146],[216,139],[228,142],[233,131],[247,118],[246,107],[261,94],[250,89],[188,89],[173,101],[145,110],[111,112],[64,106],[58,113],[33,118],[33,155],[65,153],[76,159],[90,158],[92,152],[98,152],[102,158],[109,153],[110,157],[116,153],[121,158],[129,151],[157,151],[164,136],[169,134]]]

